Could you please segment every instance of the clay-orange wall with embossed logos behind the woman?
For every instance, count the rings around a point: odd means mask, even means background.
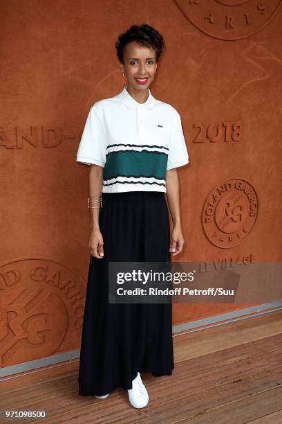
[[[189,151],[173,260],[281,260],[280,3],[1,1],[1,366],[79,348],[89,168],[75,158],[91,105],[125,83],[115,41],[132,24],[164,36],[150,89],[178,109]],[[244,306],[177,304],[173,324]]]

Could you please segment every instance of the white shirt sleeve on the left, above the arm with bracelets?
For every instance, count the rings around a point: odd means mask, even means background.
[[[77,150],[77,161],[86,165],[106,164],[106,134],[104,125],[100,121],[93,105],[88,113],[82,138]]]

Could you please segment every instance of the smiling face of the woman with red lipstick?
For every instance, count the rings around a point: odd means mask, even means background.
[[[127,79],[127,85],[133,89],[147,91],[157,70],[156,51],[133,41],[126,44],[123,58],[124,64],[121,64],[121,68]]]

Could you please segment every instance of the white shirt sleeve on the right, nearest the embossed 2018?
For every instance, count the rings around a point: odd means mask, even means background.
[[[169,157],[167,159],[167,170],[178,168],[188,164],[189,155],[182,131],[180,114],[175,110],[173,113],[171,134],[169,136]]]

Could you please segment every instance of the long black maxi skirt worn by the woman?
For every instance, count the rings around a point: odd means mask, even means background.
[[[140,373],[171,375],[171,303],[109,303],[108,262],[171,261],[164,193],[102,193],[104,257],[91,256],[79,362],[79,395],[132,389]]]

